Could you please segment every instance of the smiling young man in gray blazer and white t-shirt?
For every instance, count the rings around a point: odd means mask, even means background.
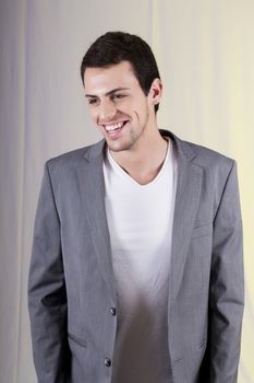
[[[110,32],[81,67],[104,139],[46,163],[29,271],[39,383],[235,383],[234,161],[158,130],[149,46]]]

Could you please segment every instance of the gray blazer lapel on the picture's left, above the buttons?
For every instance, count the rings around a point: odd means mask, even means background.
[[[85,206],[90,227],[98,267],[110,295],[116,301],[110,237],[105,209],[104,143],[104,140],[101,140],[85,153],[84,164],[78,167],[77,177],[80,188],[83,192],[83,205]]]

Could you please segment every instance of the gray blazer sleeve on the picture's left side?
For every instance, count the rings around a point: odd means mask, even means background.
[[[38,383],[65,383],[66,291],[58,216],[48,165],[38,199],[28,276],[28,310]]]

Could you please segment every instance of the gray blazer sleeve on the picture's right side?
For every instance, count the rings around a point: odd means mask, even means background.
[[[243,240],[233,162],[214,220],[209,297],[209,383],[235,383],[244,305]]]

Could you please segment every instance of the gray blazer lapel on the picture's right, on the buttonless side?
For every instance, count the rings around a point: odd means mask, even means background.
[[[174,217],[172,228],[172,255],[170,268],[169,302],[172,304],[177,298],[192,230],[197,212],[203,170],[191,162],[194,152],[184,147],[184,142],[172,136],[177,147],[178,183],[176,193]]]

